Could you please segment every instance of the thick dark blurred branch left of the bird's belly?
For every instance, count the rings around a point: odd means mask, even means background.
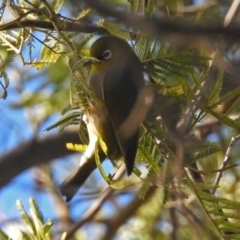
[[[79,142],[77,131],[38,137],[4,154],[0,157],[0,188],[28,168],[73,154],[73,151],[66,148],[68,142]]]

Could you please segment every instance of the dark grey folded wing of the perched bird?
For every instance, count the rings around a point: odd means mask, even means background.
[[[133,171],[139,124],[127,138],[120,134],[119,129],[130,116],[138,98],[138,88],[132,81],[132,77],[134,76],[129,68],[122,68],[106,73],[103,79],[104,102],[124,157],[128,175]]]

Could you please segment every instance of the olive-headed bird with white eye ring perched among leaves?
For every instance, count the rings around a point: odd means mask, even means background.
[[[85,111],[89,145],[83,154],[81,167],[94,158],[96,142],[101,137],[107,147],[107,157],[124,159],[127,174],[134,168],[138,147],[139,127],[152,102],[152,92],[145,86],[143,66],[130,45],[114,36],[97,39],[90,49],[95,61],[90,63],[88,86],[96,103],[90,103]],[[104,159],[103,151],[100,152]],[[91,163],[94,167],[94,163]],[[80,169],[60,187],[70,200],[83,184]],[[88,175],[92,169],[86,170]]]

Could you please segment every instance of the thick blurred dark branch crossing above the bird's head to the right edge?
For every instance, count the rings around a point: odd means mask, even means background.
[[[191,36],[215,36],[225,35],[231,37],[240,36],[239,26],[223,27],[219,24],[194,24],[189,22],[171,21],[169,19],[147,18],[128,13],[127,11],[119,11],[110,6],[110,4],[103,4],[96,0],[84,0],[84,2],[91,8],[96,9],[101,15],[113,17],[127,26],[136,27],[144,32],[149,32],[154,35],[178,34]]]

